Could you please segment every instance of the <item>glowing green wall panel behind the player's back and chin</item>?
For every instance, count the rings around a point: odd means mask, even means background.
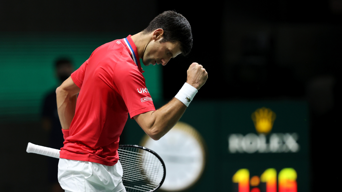
[[[117,33],[0,33],[0,121],[36,121],[44,95],[55,89],[54,60],[73,59],[77,69]],[[133,34],[131,34],[133,35]],[[162,97],[161,66],[144,67],[154,101]]]

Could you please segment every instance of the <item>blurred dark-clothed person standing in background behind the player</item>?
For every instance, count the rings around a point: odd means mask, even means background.
[[[70,59],[59,58],[55,61],[55,75],[60,86],[71,73],[74,72],[74,67]],[[63,147],[62,126],[58,118],[56,91],[51,90],[44,98],[41,123],[44,131],[48,132],[48,147],[60,149]],[[52,192],[64,191],[57,179],[58,159],[48,158],[48,181],[51,185]]]

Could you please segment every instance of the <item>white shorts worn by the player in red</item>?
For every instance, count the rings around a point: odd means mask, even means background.
[[[60,159],[58,182],[65,192],[126,192],[122,166]]]

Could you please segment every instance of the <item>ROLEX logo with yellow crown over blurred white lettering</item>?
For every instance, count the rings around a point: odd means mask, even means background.
[[[272,133],[276,114],[271,109],[260,108],[251,116],[257,134],[231,134],[228,136],[228,151],[230,153],[286,153],[298,152],[297,133]]]

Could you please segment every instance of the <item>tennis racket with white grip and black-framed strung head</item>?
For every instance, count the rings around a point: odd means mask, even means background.
[[[60,150],[28,143],[26,152],[60,158]],[[119,161],[122,165],[122,183],[127,192],[152,192],[165,180],[166,169],[160,156],[146,147],[120,145]]]

